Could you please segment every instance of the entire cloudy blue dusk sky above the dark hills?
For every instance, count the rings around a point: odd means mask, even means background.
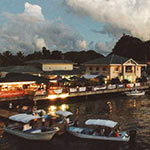
[[[150,1],[0,0],[0,52],[111,52],[123,33],[150,39]]]

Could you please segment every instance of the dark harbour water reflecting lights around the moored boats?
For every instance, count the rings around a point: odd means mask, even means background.
[[[136,144],[129,147],[127,143],[114,144],[91,140],[81,140],[65,133],[56,136],[51,142],[34,142],[4,134],[1,126],[4,121],[0,121],[0,150],[149,150],[150,149],[150,96],[124,97],[96,97],[89,99],[76,99],[73,101],[59,101],[57,103],[38,103],[38,108],[46,111],[55,111],[66,108],[76,113],[79,123],[84,126],[84,122],[89,118],[111,119],[121,123],[122,130],[136,129]],[[52,107],[51,107],[52,106]]]

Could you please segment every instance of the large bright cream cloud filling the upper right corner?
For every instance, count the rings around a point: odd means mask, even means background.
[[[100,33],[118,37],[129,33],[150,39],[150,1],[144,0],[65,0],[79,15],[88,15],[103,25]]]

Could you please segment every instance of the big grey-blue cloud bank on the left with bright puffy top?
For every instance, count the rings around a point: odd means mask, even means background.
[[[5,22],[0,25],[1,52],[10,50],[28,54],[41,50],[43,46],[66,52],[85,47],[81,35],[73,32],[61,19],[46,20],[38,5],[25,3],[24,7],[20,14],[3,12]]]

